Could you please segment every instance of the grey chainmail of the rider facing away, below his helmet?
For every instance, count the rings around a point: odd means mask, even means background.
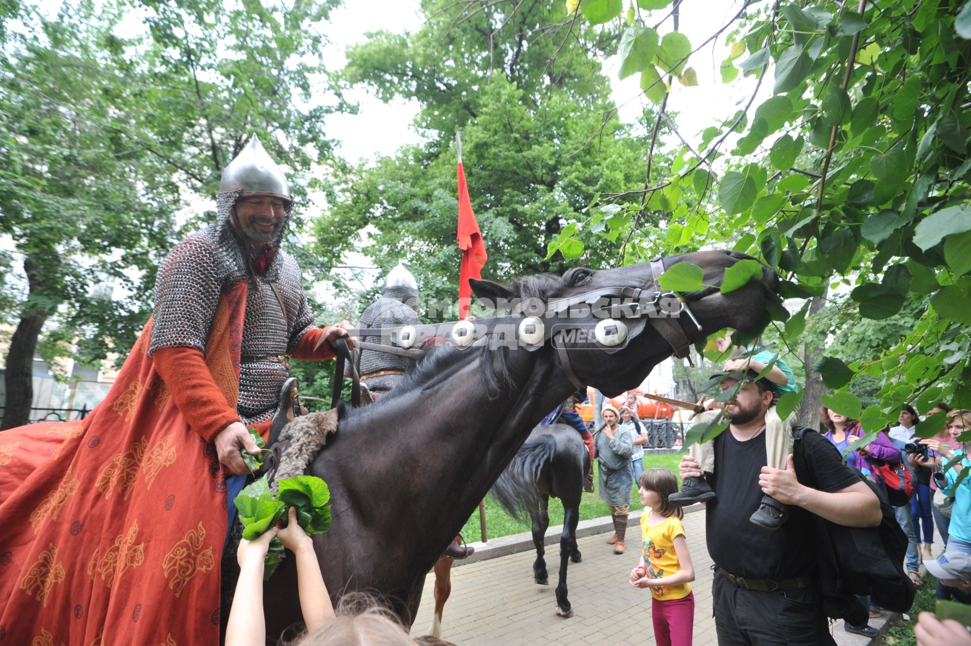
[[[357,326],[363,328],[381,327],[383,325],[389,327],[418,325],[421,320],[412,307],[418,304],[418,299],[418,289],[402,285],[385,288],[381,292],[381,298],[368,305],[367,309],[364,310]],[[377,339],[378,337],[368,337],[367,340],[377,341]],[[354,362],[361,376],[382,370],[404,371],[412,364],[412,359],[408,357],[399,357],[373,350],[355,351],[354,355]],[[400,380],[401,375],[381,375],[362,380],[362,383],[366,384],[370,391],[380,395],[390,391]]]

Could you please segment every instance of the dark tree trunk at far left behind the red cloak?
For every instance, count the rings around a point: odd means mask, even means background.
[[[7,398],[0,430],[30,423],[30,407],[34,401],[34,353],[41,328],[50,316],[50,310],[39,307],[36,299],[49,295],[42,294],[49,284],[45,272],[57,267],[57,259],[55,254],[42,252],[37,257],[28,255],[23,261],[29,291],[20,313],[20,323],[17,323],[17,331],[7,351],[7,372],[4,375]]]

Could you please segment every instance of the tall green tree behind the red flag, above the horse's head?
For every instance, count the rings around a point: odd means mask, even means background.
[[[348,83],[385,101],[419,102],[425,142],[348,169],[318,221],[318,255],[337,264],[360,248],[385,268],[401,258],[424,297],[453,300],[460,130],[485,275],[559,272],[585,254],[597,265],[616,262],[629,221],[587,207],[598,194],[644,186],[645,124],[601,127],[615,106],[597,52],[617,47],[619,33],[590,29],[560,1],[464,4],[423,2],[417,33],[372,34],[348,52]],[[652,175],[663,177],[669,163],[657,155]]]

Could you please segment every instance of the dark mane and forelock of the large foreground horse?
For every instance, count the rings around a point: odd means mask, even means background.
[[[544,302],[550,289],[559,283],[559,277],[554,274],[537,274],[526,276],[514,281],[510,288],[514,297],[526,300],[528,298],[539,298]],[[341,420],[345,417],[357,417],[365,411],[374,409],[377,405],[385,401],[394,400],[403,396],[409,391],[417,388],[427,388],[429,383],[447,379],[451,376],[455,367],[462,363],[462,357],[479,357],[482,369],[477,370],[476,374],[482,380],[482,387],[489,398],[494,399],[499,396],[502,387],[510,379],[509,374],[509,348],[500,346],[492,348],[489,344],[481,347],[472,347],[467,350],[460,350],[452,344],[443,343],[426,350],[419,359],[412,364],[405,372],[401,381],[385,396],[375,404],[353,409],[346,408],[340,411]]]

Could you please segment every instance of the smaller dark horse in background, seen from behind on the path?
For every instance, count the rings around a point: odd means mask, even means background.
[[[589,465],[590,453],[575,428],[563,424],[536,426],[492,486],[492,497],[510,516],[521,520],[521,512],[529,514],[536,546],[533,580],[543,586],[549,585],[543,538],[550,527],[550,496],[562,503],[563,531],[559,535],[559,583],[556,585],[556,614],[560,617],[573,616],[566,597],[566,567],[571,560],[575,563],[581,560],[577,522]]]

